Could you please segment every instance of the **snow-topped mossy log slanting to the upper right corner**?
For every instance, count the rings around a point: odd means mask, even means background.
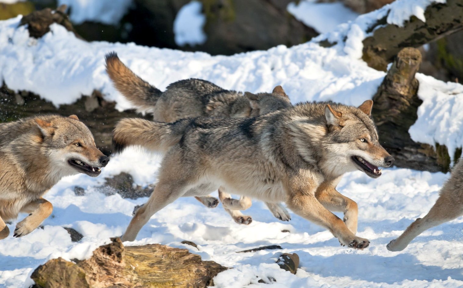
[[[363,40],[363,57],[369,67],[386,71],[404,47],[419,47],[463,29],[463,0],[434,3],[425,10],[426,22],[412,16],[403,27],[386,23],[386,17],[369,27],[373,36]]]

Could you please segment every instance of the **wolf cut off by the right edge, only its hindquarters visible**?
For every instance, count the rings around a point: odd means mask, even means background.
[[[463,161],[460,158],[450,178],[439,192],[439,198],[423,218],[416,219],[407,229],[387,245],[389,251],[404,250],[410,242],[427,229],[463,215]]]

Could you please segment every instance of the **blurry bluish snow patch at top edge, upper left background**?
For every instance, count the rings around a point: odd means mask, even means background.
[[[58,0],[57,6],[66,4],[71,9],[69,18],[74,24],[94,21],[116,25],[131,3],[132,0]]]

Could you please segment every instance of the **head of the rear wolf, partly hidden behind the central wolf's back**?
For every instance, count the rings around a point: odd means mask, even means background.
[[[291,106],[291,101],[281,86],[276,86],[272,93],[252,94],[244,92],[252,108],[251,117],[267,114]]]

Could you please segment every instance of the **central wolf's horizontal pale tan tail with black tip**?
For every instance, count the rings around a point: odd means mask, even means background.
[[[155,122],[141,118],[121,119],[113,131],[113,153],[127,146],[142,146],[148,150],[165,152],[185,134],[188,119],[173,123]]]

